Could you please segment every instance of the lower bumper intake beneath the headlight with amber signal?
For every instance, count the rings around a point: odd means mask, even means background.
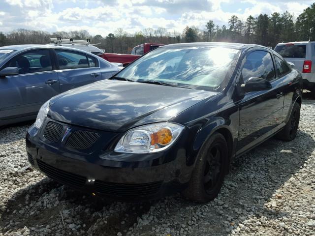
[[[95,180],[95,191],[112,197],[145,197],[158,192],[162,181],[140,184],[109,183]]]

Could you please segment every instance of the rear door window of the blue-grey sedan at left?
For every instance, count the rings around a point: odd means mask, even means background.
[[[89,67],[89,62],[85,54],[66,50],[55,50],[55,52],[61,70]]]

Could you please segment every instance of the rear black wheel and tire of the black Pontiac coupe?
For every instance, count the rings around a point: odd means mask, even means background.
[[[294,103],[289,120],[276,136],[278,139],[283,141],[292,141],[295,139],[300,122],[300,110],[300,105],[297,102]]]

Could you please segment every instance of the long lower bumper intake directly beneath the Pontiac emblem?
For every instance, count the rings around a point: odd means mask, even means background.
[[[37,164],[38,164],[39,169],[43,173],[45,173],[48,177],[51,177],[63,184],[76,187],[76,188],[82,188],[86,182],[86,177],[75,175],[66,171],[62,171],[60,169],[57,169],[55,167],[52,167],[46,164],[43,161],[37,160]]]

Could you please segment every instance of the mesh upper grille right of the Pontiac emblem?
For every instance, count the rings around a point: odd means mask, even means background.
[[[99,137],[98,133],[76,130],[69,136],[65,145],[70,148],[87,149],[91,148]]]

